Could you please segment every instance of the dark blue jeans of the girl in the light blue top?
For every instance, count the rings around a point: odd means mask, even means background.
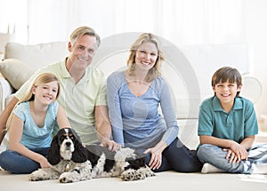
[[[49,147],[31,148],[30,150],[40,155],[46,156]],[[0,154],[0,166],[5,171],[14,174],[28,174],[41,168],[39,163],[29,159],[24,155],[11,150],[6,150]]]

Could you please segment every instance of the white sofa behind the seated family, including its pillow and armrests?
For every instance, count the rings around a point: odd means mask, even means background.
[[[107,76],[115,70],[124,69],[128,48],[139,36],[126,33],[109,36],[101,42],[93,67],[101,68]],[[217,68],[232,66],[239,68],[245,76],[241,95],[256,99],[259,86],[256,79],[249,75],[248,50],[245,44],[198,44],[175,47],[166,39],[161,39],[166,61],[163,75],[172,88],[177,120],[180,127],[179,137],[190,148],[198,146],[197,126],[198,107],[206,97],[212,96],[211,76]],[[4,109],[13,92],[20,88],[36,69],[61,60],[68,55],[66,42],[23,45],[9,43],[5,47],[4,60],[0,62],[0,109]],[[246,94],[250,92],[249,94]],[[1,150],[0,150],[1,152]]]

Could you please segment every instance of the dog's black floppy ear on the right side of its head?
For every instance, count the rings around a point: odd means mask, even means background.
[[[87,161],[87,150],[82,145],[81,139],[77,135],[77,132],[71,129],[74,134],[75,139],[74,142],[74,152],[72,153],[71,160],[75,163],[85,163]]]

